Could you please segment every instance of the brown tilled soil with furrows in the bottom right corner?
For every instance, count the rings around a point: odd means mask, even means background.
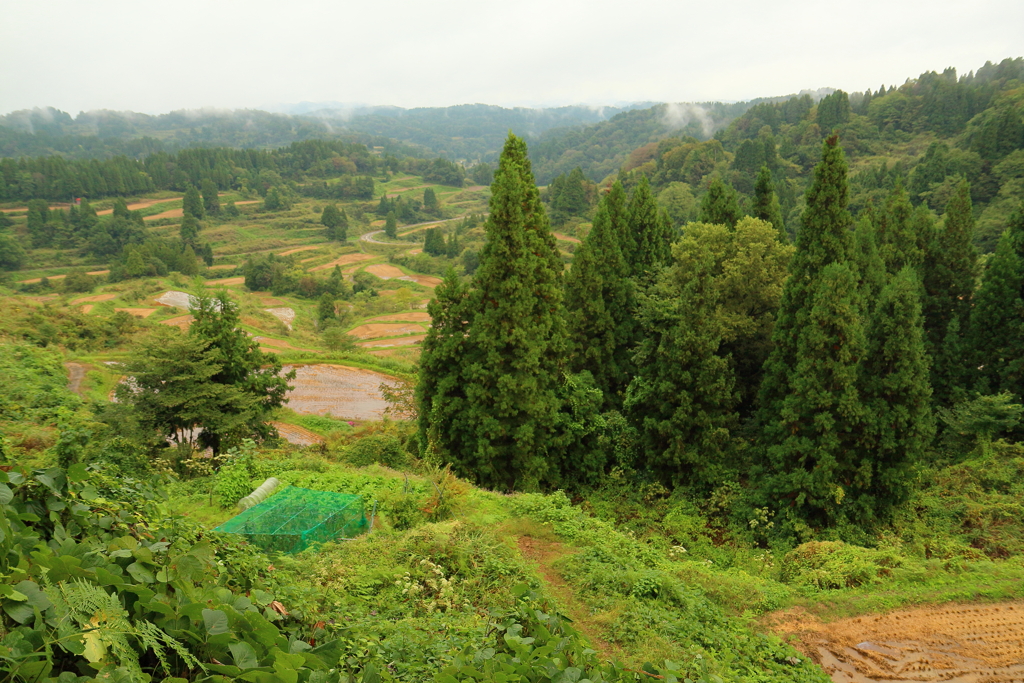
[[[769,624],[836,683],[1024,681],[1024,601],[947,604],[822,624],[790,610]]]

